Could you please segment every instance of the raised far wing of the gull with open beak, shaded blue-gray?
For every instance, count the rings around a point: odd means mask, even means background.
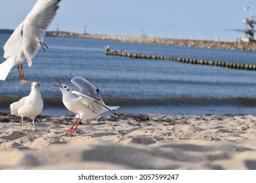
[[[102,101],[100,91],[91,82],[80,76],[72,78],[71,82],[79,88],[81,93],[85,93],[90,97],[93,97],[97,101]]]

